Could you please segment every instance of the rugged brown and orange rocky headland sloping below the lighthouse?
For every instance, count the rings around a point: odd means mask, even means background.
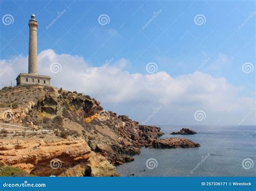
[[[82,93],[47,86],[6,87],[0,90],[0,104],[6,101],[5,95],[17,106],[11,108],[14,117],[9,123],[55,132],[42,138],[37,133],[30,138],[18,135],[19,149],[8,136],[2,140],[6,149],[1,149],[0,162],[34,175],[116,176],[115,165],[133,161],[129,154],[140,153],[163,135],[159,127],[104,111],[99,101]],[[63,162],[62,168],[50,168],[55,158]]]

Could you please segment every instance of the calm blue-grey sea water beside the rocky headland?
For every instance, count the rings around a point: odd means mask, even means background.
[[[255,176],[256,126],[160,126],[161,138],[188,138],[199,142],[198,148],[143,148],[133,155],[133,162],[117,166],[121,176]],[[170,135],[182,127],[198,134]],[[208,157],[206,157],[208,155]],[[149,169],[146,161],[151,159]],[[153,159],[153,160],[152,160]],[[203,160],[204,159],[204,160]],[[246,159],[246,160],[245,160]],[[251,159],[251,160],[248,160]],[[244,161],[244,167],[242,161]],[[246,162],[247,161],[247,162]],[[199,166],[198,163],[200,163]],[[197,166],[197,168],[196,168]],[[252,167],[253,166],[253,167]],[[251,168],[250,168],[251,167]],[[192,171],[193,168],[196,170]]]

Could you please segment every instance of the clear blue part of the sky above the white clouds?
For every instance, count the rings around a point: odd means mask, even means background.
[[[10,14],[14,18],[10,25],[1,23],[0,59],[28,56],[28,20],[35,13],[38,53],[51,49],[59,55],[77,55],[91,67],[100,67],[111,58],[125,59],[122,70],[143,75],[147,63],[153,62],[158,72],[172,78],[193,74],[208,59],[200,72],[225,78],[241,88],[239,95],[255,98],[256,69],[250,73],[241,69],[244,63],[255,67],[253,1],[3,0],[0,6],[1,17]],[[46,29],[63,10],[58,21]],[[109,16],[106,25],[98,22],[102,14]],[[205,17],[204,24],[194,22],[199,14]],[[103,104],[119,111],[111,103]]]

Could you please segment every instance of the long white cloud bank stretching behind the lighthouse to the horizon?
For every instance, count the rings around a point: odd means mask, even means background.
[[[59,73],[50,71],[55,62],[62,65]],[[134,120],[144,121],[161,105],[149,124],[238,124],[255,107],[254,98],[239,95],[242,87],[201,72],[177,78],[166,72],[131,74],[125,71],[130,62],[123,58],[92,67],[83,57],[57,54],[53,50],[39,53],[38,64],[40,74],[52,77],[52,86],[89,94],[106,110],[127,114]],[[28,58],[19,57],[15,64],[9,65],[9,60],[0,60],[2,86],[9,85],[18,73],[27,72]],[[194,120],[194,112],[198,110],[206,113],[204,121]],[[255,124],[254,116],[255,112],[244,124]]]

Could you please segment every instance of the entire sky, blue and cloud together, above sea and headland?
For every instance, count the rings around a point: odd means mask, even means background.
[[[0,0],[0,87],[39,73],[146,125],[255,125],[254,1]]]

